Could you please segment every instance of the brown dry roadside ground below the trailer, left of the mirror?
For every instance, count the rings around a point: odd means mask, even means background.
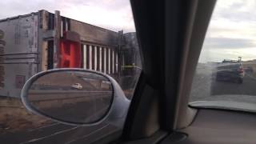
[[[50,123],[49,119],[27,111],[18,98],[0,97],[0,133],[30,130]]]

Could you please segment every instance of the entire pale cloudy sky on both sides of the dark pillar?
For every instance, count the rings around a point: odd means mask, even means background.
[[[2,0],[0,19],[38,10],[60,10],[62,16],[106,29],[134,32],[129,0]],[[256,1],[218,0],[199,62],[256,59]]]

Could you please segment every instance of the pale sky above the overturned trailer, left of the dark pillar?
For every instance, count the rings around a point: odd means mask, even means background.
[[[106,29],[134,32],[129,0],[2,0],[0,19],[38,10],[60,10],[61,15]]]

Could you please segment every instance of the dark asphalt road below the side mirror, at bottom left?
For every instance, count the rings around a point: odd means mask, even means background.
[[[62,143],[86,143],[101,138],[103,134],[111,134],[118,128],[109,124],[99,126],[67,126],[57,122],[49,126],[38,127],[34,130],[20,131],[14,134],[1,134],[2,144],[36,143],[36,144],[62,144]]]

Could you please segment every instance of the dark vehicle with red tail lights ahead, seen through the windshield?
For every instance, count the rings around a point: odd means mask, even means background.
[[[230,81],[242,83],[245,72],[242,63],[225,63],[217,67],[216,81]]]

